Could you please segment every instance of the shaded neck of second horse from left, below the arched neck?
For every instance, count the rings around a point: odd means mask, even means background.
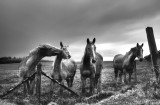
[[[57,55],[55,63],[54,63],[54,72],[60,72],[60,70],[61,70],[61,61],[62,61],[62,57]]]

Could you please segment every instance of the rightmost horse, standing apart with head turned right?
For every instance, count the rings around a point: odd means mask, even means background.
[[[135,58],[137,57],[140,62],[143,60],[142,47],[143,47],[143,43],[142,45],[139,45],[137,43],[136,47],[131,48],[130,51],[127,52],[125,55],[122,55],[122,54],[115,55],[113,59],[113,67],[114,67],[116,84],[117,84],[118,74],[119,74],[121,83],[122,83],[122,75],[124,75],[124,83],[127,82],[126,73],[129,74],[129,83],[130,83],[133,71],[135,71],[135,83],[137,82]]]

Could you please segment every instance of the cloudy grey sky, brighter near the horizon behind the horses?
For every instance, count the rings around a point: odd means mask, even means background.
[[[153,27],[160,50],[160,0],[1,0],[0,57],[24,57],[39,44],[69,45],[80,61],[86,40],[96,38],[104,60],[144,43]],[[45,59],[53,60],[53,57]]]

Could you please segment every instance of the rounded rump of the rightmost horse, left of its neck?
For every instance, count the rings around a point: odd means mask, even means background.
[[[117,55],[114,56],[113,67],[115,69],[122,69],[123,58],[124,58],[124,55],[122,55],[122,54],[117,54]]]

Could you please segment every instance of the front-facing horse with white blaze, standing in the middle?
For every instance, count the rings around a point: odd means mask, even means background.
[[[82,95],[85,94],[86,79],[90,79],[90,94],[101,92],[101,72],[103,69],[103,57],[96,52],[96,39],[91,42],[87,38],[87,45],[80,64],[80,74],[82,81]]]

